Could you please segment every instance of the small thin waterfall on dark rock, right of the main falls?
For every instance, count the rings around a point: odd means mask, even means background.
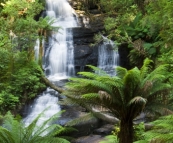
[[[98,48],[98,67],[110,75],[115,75],[115,68],[119,65],[119,54],[115,43],[106,37]]]

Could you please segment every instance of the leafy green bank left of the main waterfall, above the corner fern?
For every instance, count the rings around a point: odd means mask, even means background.
[[[52,19],[37,18],[42,0],[2,0],[0,9],[0,113],[13,113],[41,92],[42,69],[34,62],[36,39],[42,40],[53,28]],[[42,55],[42,54],[40,54]]]

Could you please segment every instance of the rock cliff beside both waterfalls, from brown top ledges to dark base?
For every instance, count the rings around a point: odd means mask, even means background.
[[[74,9],[74,17],[78,21],[73,28],[75,71],[88,71],[86,65],[98,65],[98,46],[91,47],[94,35],[104,31],[104,14],[101,14],[97,3],[85,0],[68,0]],[[88,14],[89,12],[89,14]],[[128,51],[119,48],[120,66],[128,67]]]

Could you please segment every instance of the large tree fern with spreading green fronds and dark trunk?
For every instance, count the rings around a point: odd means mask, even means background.
[[[151,63],[146,59],[141,69],[118,67],[113,77],[90,66],[95,73],[80,72],[82,78],[71,78],[67,83],[63,94],[68,98],[64,102],[79,104],[95,113],[99,112],[98,108],[104,108],[104,112],[120,120],[119,143],[132,143],[133,120],[142,111],[164,111],[161,105],[167,102],[165,91],[171,88],[166,82],[170,77],[169,66],[161,65],[152,70]]]

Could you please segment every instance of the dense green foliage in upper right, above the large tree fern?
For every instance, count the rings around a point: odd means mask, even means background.
[[[128,44],[130,63],[141,67],[145,58],[172,60],[172,1],[100,0],[108,38]],[[142,41],[138,43],[137,41]]]

